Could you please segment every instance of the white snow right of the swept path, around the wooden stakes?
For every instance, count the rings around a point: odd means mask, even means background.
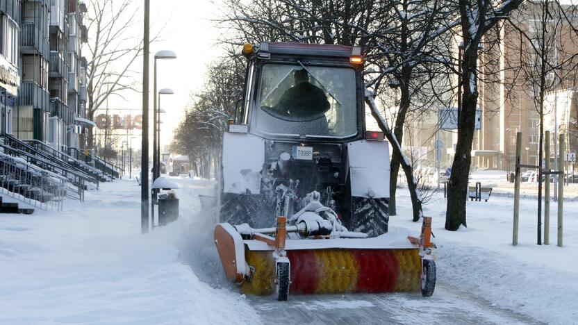
[[[419,231],[411,222],[407,190],[398,192],[398,215],[390,225]],[[564,204],[564,246],[556,246],[557,206],[551,203],[550,245],[536,244],[537,197],[520,200],[519,244],[513,247],[513,199],[468,201],[468,228],[445,231],[447,201],[434,194],[424,208],[433,217],[438,246],[438,283],[482,297],[500,308],[550,324],[578,324],[578,202]],[[434,293],[435,295],[435,293]]]

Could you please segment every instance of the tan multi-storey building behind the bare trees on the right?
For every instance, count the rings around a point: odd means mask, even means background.
[[[479,98],[478,107],[481,112],[480,128],[474,133],[472,144],[472,167],[477,169],[513,170],[515,164],[515,137],[518,131],[522,132],[522,161],[528,164],[538,164],[538,141],[540,115],[538,114],[539,97],[527,82],[527,69],[519,66],[520,52],[525,52],[525,59],[535,62],[539,60],[538,53],[534,53],[528,46],[528,40],[522,38],[517,28],[527,35],[541,33],[538,3],[525,4],[525,10],[513,14],[512,22],[516,26],[506,25],[501,28],[499,35],[488,33],[488,38],[497,39],[491,48],[481,50],[479,57]],[[552,10],[552,13],[555,13]],[[556,22],[556,33],[548,35],[552,39],[549,50],[550,60],[563,62],[568,55],[578,53],[578,40],[570,32],[568,22],[556,21],[552,18],[550,24]],[[563,20],[563,19],[562,19]],[[578,25],[578,21],[573,22]],[[576,26],[576,25],[575,25]],[[553,26],[552,29],[553,30]],[[487,39],[486,47],[490,44]],[[458,44],[455,40],[452,51],[458,56]],[[555,45],[554,45],[555,44]],[[553,78],[554,74],[549,75]],[[569,151],[577,150],[576,135],[578,133],[576,121],[578,119],[578,72],[564,71],[554,81],[555,86],[550,88],[545,99],[545,131],[554,132],[553,98],[558,98],[557,114],[559,133],[568,135],[566,143],[570,144]],[[518,78],[517,81],[515,79]],[[549,80],[552,82],[551,80]],[[454,78],[457,84],[457,77]],[[554,89],[556,91],[554,92]],[[456,99],[456,97],[454,97]],[[454,99],[454,108],[458,107]],[[564,104],[560,104],[564,103]],[[442,144],[440,149],[441,167],[450,167],[454,158],[454,149],[457,143],[456,130],[439,130],[440,111],[447,109],[439,107],[431,110],[419,118],[408,119],[405,126],[403,146],[410,151],[413,157],[422,165],[436,164],[436,140]],[[565,117],[565,118],[563,118]],[[553,153],[552,153],[553,154]]]

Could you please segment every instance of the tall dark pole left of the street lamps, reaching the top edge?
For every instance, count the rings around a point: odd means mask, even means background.
[[[149,24],[150,0],[145,0],[144,44],[142,56],[142,141],[140,168],[140,228],[149,232]]]

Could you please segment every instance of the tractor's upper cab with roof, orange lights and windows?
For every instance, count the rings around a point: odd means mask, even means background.
[[[358,47],[263,43],[248,58],[238,122],[271,139],[344,142],[363,134],[363,60]]]

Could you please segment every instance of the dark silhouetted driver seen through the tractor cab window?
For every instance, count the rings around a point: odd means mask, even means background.
[[[309,82],[307,70],[301,69],[295,72],[295,86],[283,93],[276,109],[295,122],[311,121],[324,117],[329,101],[321,88]]]

